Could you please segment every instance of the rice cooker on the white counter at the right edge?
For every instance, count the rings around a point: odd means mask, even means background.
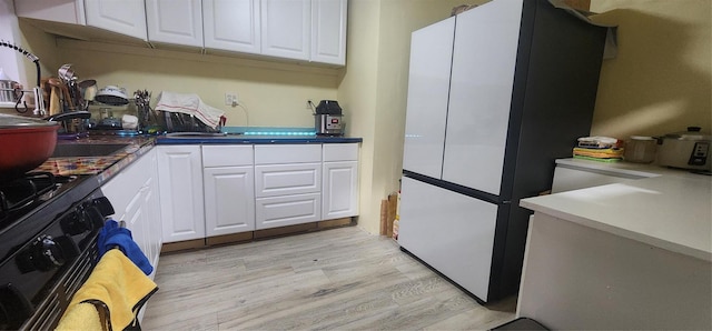
[[[712,136],[701,132],[700,127],[688,127],[688,131],[668,133],[660,138],[659,144],[660,165],[690,170],[712,169]]]

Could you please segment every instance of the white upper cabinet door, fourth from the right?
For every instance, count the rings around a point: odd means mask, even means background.
[[[202,48],[200,0],[146,0],[148,41]]]

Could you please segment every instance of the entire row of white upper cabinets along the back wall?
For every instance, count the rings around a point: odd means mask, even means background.
[[[80,40],[135,43],[140,39],[166,46],[346,64],[347,0],[14,2],[18,17],[34,19],[47,32]]]

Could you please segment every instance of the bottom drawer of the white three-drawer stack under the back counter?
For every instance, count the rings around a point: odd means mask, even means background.
[[[322,194],[308,193],[259,198],[255,215],[257,230],[319,221]]]

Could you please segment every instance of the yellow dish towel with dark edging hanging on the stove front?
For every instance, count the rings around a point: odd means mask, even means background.
[[[136,323],[139,309],[157,290],[156,283],[120,250],[110,250],[71,299],[60,325],[67,330],[79,329],[80,325],[62,324],[62,321],[76,305],[88,302],[93,303],[100,315],[106,314],[110,330],[123,330]]]

